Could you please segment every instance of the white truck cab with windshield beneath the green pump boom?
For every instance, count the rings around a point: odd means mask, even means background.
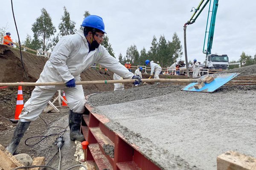
[[[228,70],[227,54],[209,54],[206,58],[206,66],[209,70]]]

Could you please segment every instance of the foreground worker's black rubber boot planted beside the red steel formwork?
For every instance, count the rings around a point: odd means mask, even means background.
[[[70,140],[84,141],[84,135],[80,133],[81,121],[83,114],[74,113],[70,111],[69,127],[70,127]]]

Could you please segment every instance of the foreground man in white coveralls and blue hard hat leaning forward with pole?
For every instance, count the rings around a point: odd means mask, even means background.
[[[15,153],[20,139],[23,137],[31,121],[40,116],[43,109],[56,91],[65,89],[69,113],[70,139],[83,141],[80,133],[82,115],[85,111],[85,97],[82,85],[76,85],[81,81],[80,74],[93,63],[98,63],[105,68],[120,75],[124,79],[137,79],[134,84],[139,84],[141,79],[134,76],[125,66],[116,61],[106,48],[100,45],[103,41],[105,25],[101,17],[90,15],[84,18],[82,25],[84,30],[78,30],[76,34],[63,36],[55,46],[49,60],[44,65],[37,82],[65,82],[63,86],[35,86],[30,99],[25,103],[19,116],[18,124],[10,144],[6,147],[10,153]]]

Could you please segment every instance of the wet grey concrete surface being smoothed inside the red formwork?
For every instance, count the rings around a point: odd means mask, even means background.
[[[165,170],[216,170],[228,150],[256,157],[256,87],[222,87],[215,93],[148,85],[89,97],[111,130]]]

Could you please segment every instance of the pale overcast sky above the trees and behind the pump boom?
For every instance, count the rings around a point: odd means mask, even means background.
[[[183,47],[183,25],[192,16],[192,7],[197,7],[201,0],[13,0],[15,19],[21,41],[26,35],[33,36],[31,26],[41,15],[41,8],[46,8],[56,29],[66,6],[71,20],[79,29],[84,11],[99,15],[105,23],[109,42],[118,57],[123,56],[131,45],[137,45],[138,51],[143,47],[148,51],[152,38],[157,41],[160,35],[172,41],[174,32],[180,38]],[[17,32],[12,17],[11,0],[1,0],[0,28],[7,27],[11,37],[17,40]],[[196,22],[187,27],[188,59],[197,58],[203,62],[204,34],[208,6]],[[227,54],[230,61],[238,60],[242,51],[254,56],[256,54],[256,1],[255,0],[219,0],[212,54]]]

